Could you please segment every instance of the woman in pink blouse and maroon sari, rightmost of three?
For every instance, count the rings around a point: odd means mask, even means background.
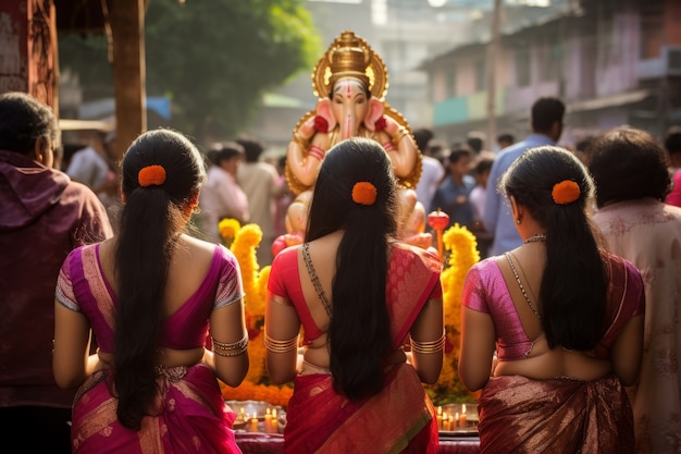
[[[599,247],[593,181],[570,151],[524,151],[499,187],[524,244],[474,265],[462,294],[459,377],[482,390],[481,452],[633,452],[641,273]]]

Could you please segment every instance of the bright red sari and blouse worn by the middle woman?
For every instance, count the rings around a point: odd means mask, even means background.
[[[442,295],[442,265],[428,251],[396,244],[388,267],[386,303],[393,346],[399,349],[423,305]],[[273,294],[296,306],[309,341],[310,334],[319,333],[319,329],[309,324],[311,317],[298,292],[297,268],[296,248],[280,253],[272,265],[269,286]],[[292,273],[296,278],[292,279]],[[286,413],[284,451],[292,454],[436,453],[435,410],[417,371],[406,363],[385,370],[383,391],[359,402],[337,394],[330,373],[296,377]]]

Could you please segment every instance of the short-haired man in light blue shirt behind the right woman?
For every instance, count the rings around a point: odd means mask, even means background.
[[[499,194],[499,179],[510,164],[525,150],[542,145],[556,145],[562,133],[565,103],[557,98],[540,98],[532,105],[532,134],[523,140],[504,148],[494,160],[490,171],[487,199],[483,214],[485,229],[494,234],[490,249],[491,256],[504,254],[522,245],[522,238],[516,230],[510,206]]]

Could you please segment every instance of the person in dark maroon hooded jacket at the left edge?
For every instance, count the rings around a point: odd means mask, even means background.
[[[52,169],[59,144],[47,106],[0,95],[0,432],[25,453],[71,453],[75,390],[52,373],[54,289],[73,248],[112,235],[95,193]]]

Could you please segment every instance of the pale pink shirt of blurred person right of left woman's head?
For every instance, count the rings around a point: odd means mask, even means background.
[[[208,180],[199,195],[201,230],[215,243],[221,243],[218,224],[223,218],[248,222],[248,199],[234,176],[219,165],[208,169]]]

